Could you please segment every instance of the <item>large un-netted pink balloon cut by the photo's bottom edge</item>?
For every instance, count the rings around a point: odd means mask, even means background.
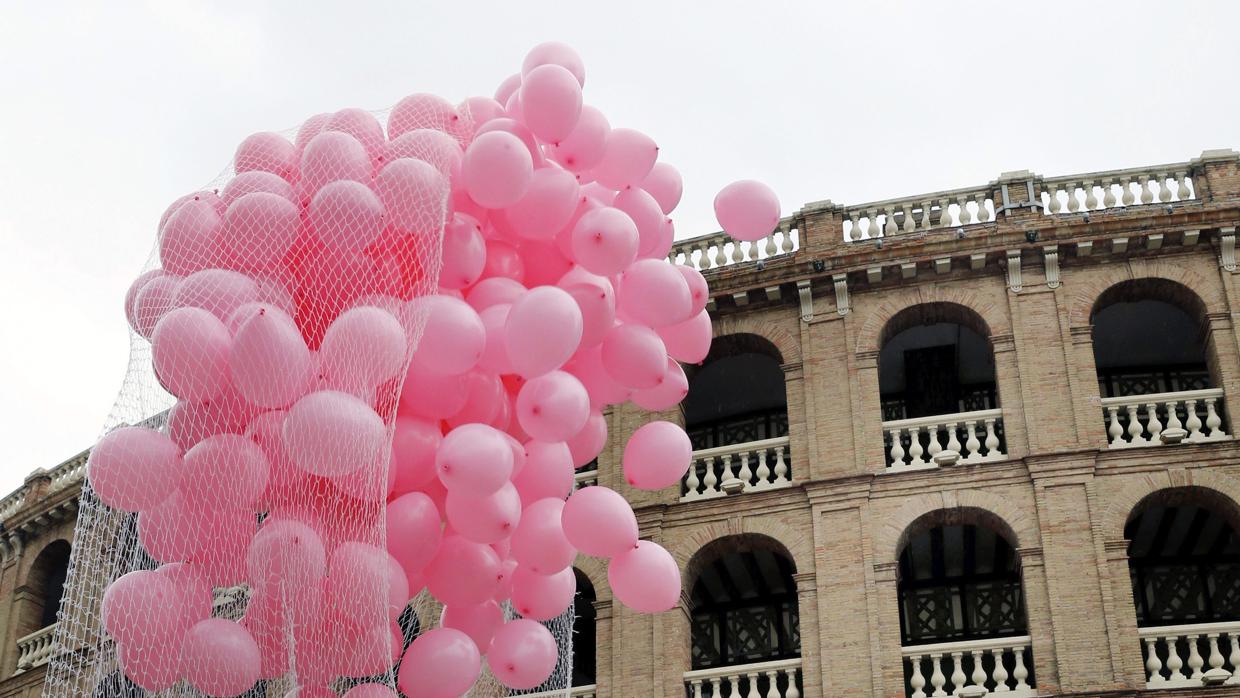
[[[481,672],[482,660],[469,635],[439,627],[419,635],[405,650],[397,684],[408,698],[458,698]]]

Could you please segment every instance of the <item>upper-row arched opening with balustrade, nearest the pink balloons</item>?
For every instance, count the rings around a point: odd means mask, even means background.
[[[769,340],[742,334],[717,337],[702,366],[687,369],[682,409],[694,459],[682,500],[723,496],[729,480],[745,491],[791,482],[781,364]]]

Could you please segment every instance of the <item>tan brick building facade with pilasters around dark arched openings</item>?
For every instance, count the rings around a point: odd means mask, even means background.
[[[1151,201],[1131,188],[1131,202],[1122,190],[1116,196],[1112,185],[1126,182]],[[1202,307],[1219,407],[1240,414],[1238,222],[1240,155],[1208,151],[1178,165],[1055,179],[1014,172],[873,205],[818,202],[760,244],[761,260],[717,237],[677,243],[675,262],[704,268],[715,335],[758,335],[780,355],[791,484],[691,502],[676,488],[632,490],[620,475],[624,444],[652,417],[608,413],[599,484],[634,502],[642,537],[671,550],[686,590],[677,610],[635,614],[613,600],[604,564],[579,560],[598,595],[595,693],[686,696],[697,553],[735,537],[773,541],[795,568],[802,696],[906,696],[897,560],[928,517],[983,522],[1016,548],[1038,696],[1146,693],[1125,524],[1167,490],[1223,502],[1220,516],[1240,518],[1240,448],[1230,438],[1109,448],[1091,316],[1123,281],[1187,291]],[[1004,460],[888,467],[879,351],[893,319],[928,304],[967,310],[990,342]],[[657,417],[682,419],[677,410]],[[72,534],[74,487],[50,486],[55,472],[32,475],[20,505],[0,502],[0,674],[12,677],[0,696],[38,687],[41,668],[17,672],[17,645],[35,630],[22,619],[40,603],[32,560]],[[926,694],[932,689],[928,683]],[[1159,694],[1240,696],[1240,687]]]

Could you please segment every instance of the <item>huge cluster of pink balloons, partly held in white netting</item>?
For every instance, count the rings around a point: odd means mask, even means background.
[[[603,450],[608,405],[684,397],[709,294],[667,260],[680,175],[584,84],[544,43],[494,98],[252,135],[223,188],[169,207],[125,311],[177,402],[159,429],[108,434],[88,470],[162,563],[103,599],[130,679],[236,696],[291,676],[305,698],[399,663],[405,696],[438,698],[485,658],[528,689],[556,667],[538,621],[572,604],[578,554],[609,560],[622,604],[676,605],[672,557],[620,493],[573,491],[574,469]],[[676,486],[689,460],[684,431],[651,422],[624,477]],[[213,617],[212,589],[242,584],[244,615]],[[405,650],[396,620],[423,589],[443,616]]]

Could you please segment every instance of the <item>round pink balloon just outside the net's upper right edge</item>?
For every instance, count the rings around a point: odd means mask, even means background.
[[[461,180],[470,197],[487,208],[512,206],[525,196],[533,177],[533,159],[521,140],[489,131],[465,149]]]

